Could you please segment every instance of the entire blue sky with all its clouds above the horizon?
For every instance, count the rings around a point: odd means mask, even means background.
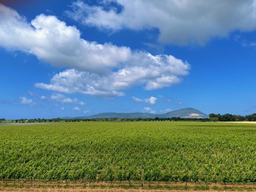
[[[255,1],[0,2],[1,118],[256,112]]]

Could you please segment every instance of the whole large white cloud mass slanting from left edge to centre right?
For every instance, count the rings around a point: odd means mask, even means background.
[[[49,84],[36,87],[62,93],[124,96],[120,90],[143,85],[145,90],[169,87],[188,75],[190,65],[172,55],[151,55],[129,47],[98,44],[80,37],[75,26],[55,16],[38,15],[31,23],[0,4],[0,46],[35,55],[57,67]]]

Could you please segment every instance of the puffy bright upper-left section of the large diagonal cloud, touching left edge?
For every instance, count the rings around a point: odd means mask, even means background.
[[[98,44],[80,38],[75,26],[55,16],[38,15],[31,23],[15,10],[0,4],[0,45],[35,55],[57,67],[103,73],[131,57],[131,49]]]

